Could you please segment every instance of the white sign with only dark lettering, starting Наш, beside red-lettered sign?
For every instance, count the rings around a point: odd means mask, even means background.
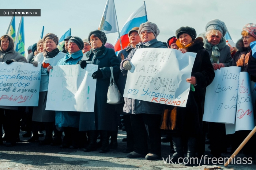
[[[214,80],[206,88],[203,121],[235,123],[240,71],[241,67],[215,70]]]

